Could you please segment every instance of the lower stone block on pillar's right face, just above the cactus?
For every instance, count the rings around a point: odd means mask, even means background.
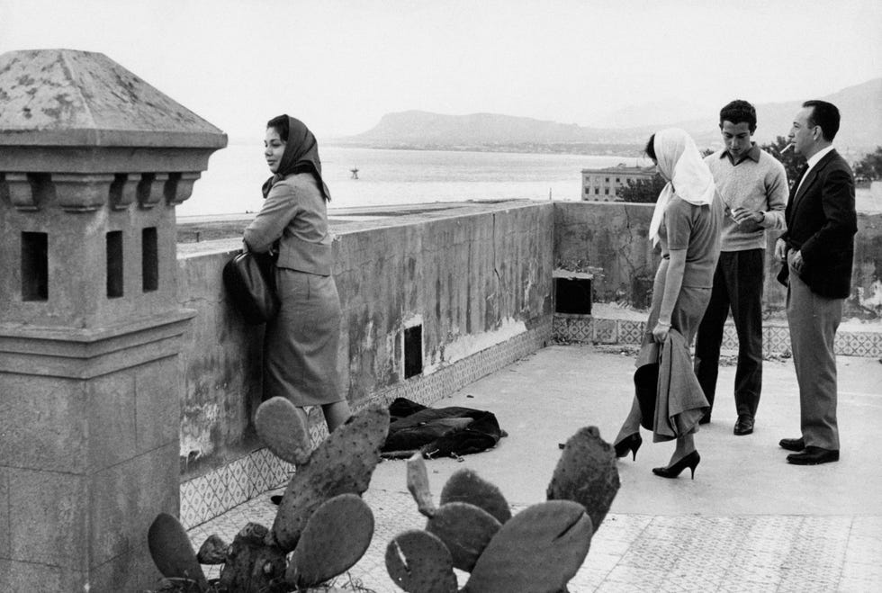
[[[177,443],[96,472],[91,480],[93,566],[130,553],[144,541],[159,513],[178,513]]]

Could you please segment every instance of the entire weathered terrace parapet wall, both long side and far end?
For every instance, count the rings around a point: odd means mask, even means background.
[[[344,309],[339,372],[354,406],[404,381],[403,332],[422,326],[423,374],[522,334],[553,313],[555,268],[594,274],[594,301],[651,300],[658,256],[646,239],[653,206],[554,202],[460,207],[338,225],[335,279]],[[860,215],[855,296],[882,313],[882,215]],[[257,446],[262,329],[229,309],[220,270],[237,239],[178,246],[180,304],[198,313],[184,337],[184,476]],[[769,260],[766,307],[785,292]]]

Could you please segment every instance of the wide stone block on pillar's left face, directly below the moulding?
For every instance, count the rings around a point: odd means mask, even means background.
[[[84,472],[88,459],[83,385],[0,373],[0,451],[19,468]]]

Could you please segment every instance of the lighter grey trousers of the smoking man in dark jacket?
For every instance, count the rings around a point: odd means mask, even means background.
[[[843,301],[815,294],[790,266],[788,325],[799,384],[799,422],[806,446],[839,450],[833,342],[842,320]]]

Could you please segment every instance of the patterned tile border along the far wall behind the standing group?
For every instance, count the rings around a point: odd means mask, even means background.
[[[590,315],[554,314],[554,341],[563,344],[640,344],[644,321],[600,319]],[[762,328],[762,347],[766,355],[790,352],[790,332],[786,326]],[[882,358],[882,332],[840,331],[836,334],[836,354]],[[732,323],[723,332],[723,349],[738,350],[738,335]]]

